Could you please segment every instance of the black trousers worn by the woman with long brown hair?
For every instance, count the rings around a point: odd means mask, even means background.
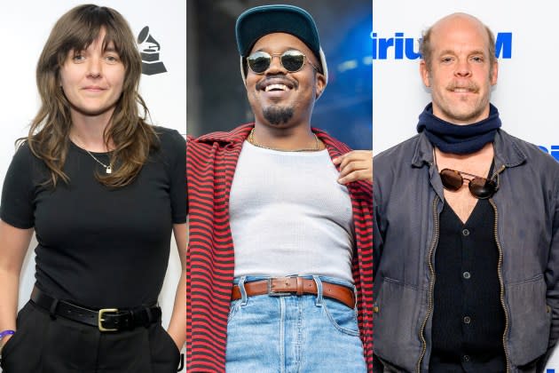
[[[100,332],[29,301],[2,351],[3,373],[176,373],[180,352],[161,322]]]

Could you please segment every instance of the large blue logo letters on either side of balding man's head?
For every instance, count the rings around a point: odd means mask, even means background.
[[[378,37],[377,33],[373,32],[371,38],[373,39],[373,60],[388,60],[389,54],[394,56],[394,60],[417,60],[421,57],[419,52],[421,39],[405,37],[403,32],[395,32],[394,37]],[[511,32],[497,34],[495,57],[498,59],[510,59],[512,57]]]

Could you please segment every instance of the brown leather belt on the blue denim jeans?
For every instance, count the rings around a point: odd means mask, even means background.
[[[245,282],[245,290],[248,297],[268,294],[272,297],[289,295],[317,295],[317,284],[312,279],[303,277],[275,277],[255,282]],[[323,297],[332,298],[342,302],[350,308],[355,307],[355,294],[352,290],[335,283],[322,282]],[[231,300],[240,299],[239,285],[233,285]]]

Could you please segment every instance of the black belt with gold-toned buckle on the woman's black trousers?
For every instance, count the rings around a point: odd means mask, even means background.
[[[69,320],[82,322],[97,327],[100,331],[130,330],[138,326],[147,327],[155,321],[161,320],[159,306],[146,306],[134,309],[119,310],[117,308],[102,308],[91,310],[82,306],[75,306],[65,300],[52,298],[36,286],[31,293],[31,300],[51,313]]]

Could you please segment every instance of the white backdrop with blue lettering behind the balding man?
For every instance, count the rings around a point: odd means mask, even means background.
[[[498,33],[512,33],[512,54],[500,58],[499,80],[492,103],[499,108],[503,129],[559,155],[559,128],[555,107],[559,75],[555,65],[559,49],[555,42],[554,2],[505,0],[374,0],[373,30],[379,39],[413,38],[414,51],[421,31],[452,12],[468,12]],[[403,36],[396,33],[403,33]],[[375,40],[376,39],[376,40]],[[390,43],[390,42],[387,42]],[[377,48],[378,49],[378,48]],[[383,49],[383,48],[381,48]],[[419,75],[419,60],[397,59],[394,48],[386,58],[377,51],[373,61],[374,153],[413,136],[417,116],[430,101]],[[547,373],[559,372],[557,350],[547,364]]]

